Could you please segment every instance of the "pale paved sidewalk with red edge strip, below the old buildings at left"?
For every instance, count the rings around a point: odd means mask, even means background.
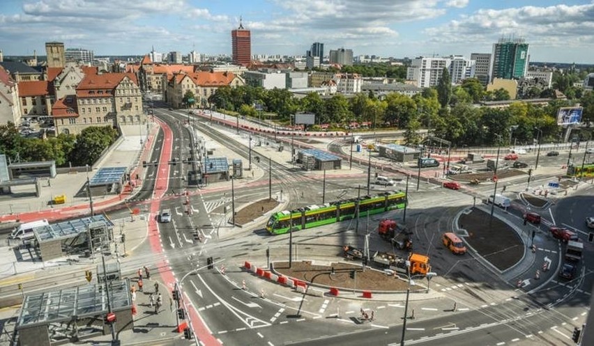
[[[115,143],[102,157],[98,165],[93,168],[125,166],[130,171],[130,177],[134,180],[136,175],[139,178],[144,174],[144,169],[139,163],[147,157],[151,148],[154,146],[153,139],[158,133],[157,123],[149,123],[148,141],[146,127],[139,125],[124,125],[121,127],[123,136]],[[13,223],[15,221],[29,222],[38,219],[48,219],[49,221],[77,217],[90,212],[89,198],[77,197],[79,191],[84,189],[86,180],[93,178],[93,170],[89,167],[86,173],[63,173],[56,175],[56,178],[42,180],[40,196],[24,198],[2,198],[0,199],[0,209],[7,213],[0,216],[0,226],[2,223]],[[140,186],[140,182],[135,182]],[[30,191],[31,187],[15,187],[15,193]],[[137,189],[136,191],[139,191]],[[130,198],[135,191],[130,191],[128,185],[121,194],[107,194],[105,196],[94,196],[93,207],[95,212],[100,212],[105,207],[120,203],[121,200]],[[50,200],[54,196],[66,195],[64,205],[51,205]]]

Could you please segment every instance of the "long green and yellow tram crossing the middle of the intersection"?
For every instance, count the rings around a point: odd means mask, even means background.
[[[296,210],[277,212],[266,223],[266,230],[273,235],[279,235],[289,232],[291,226],[293,230],[302,230],[353,219],[356,217],[357,205],[359,205],[359,217],[403,209],[406,205],[406,194],[404,191],[384,192],[377,196],[363,196],[359,200],[357,198],[339,200],[324,205],[310,205]]]

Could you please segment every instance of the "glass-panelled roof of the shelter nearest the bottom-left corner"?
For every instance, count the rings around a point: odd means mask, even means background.
[[[130,282],[127,279],[111,281],[108,286],[112,310],[131,308]],[[23,301],[16,329],[70,321],[73,316],[103,315],[108,311],[104,283],[31,294]]]

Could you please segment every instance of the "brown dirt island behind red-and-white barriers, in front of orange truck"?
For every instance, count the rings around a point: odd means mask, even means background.
[[[335,274],[332,274],[334,267]],[[343,290],[370,290],[370,291],[403,291],[407,283],[398,276],[388,275],[370,268],[363,269],[360,265],[351,265],[344,262],[331,264],[317,264],[312,261],[293,262],[289,268],[289,262],[275,262],[275,272],[297,278],[307,283],[316,283],[330,288]],[[351,272],[356,270],[355,278],[351,278]],[[412,290],[422,290],[423,287],[412,285]]]

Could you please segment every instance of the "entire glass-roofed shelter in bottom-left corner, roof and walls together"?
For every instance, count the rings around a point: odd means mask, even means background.
[[[52,346],[105,335],[109,333],[105,315],[110,310],[116,315],[116,333],[134,327],[128,279],[27,294],[15,339],[22,346]]]

